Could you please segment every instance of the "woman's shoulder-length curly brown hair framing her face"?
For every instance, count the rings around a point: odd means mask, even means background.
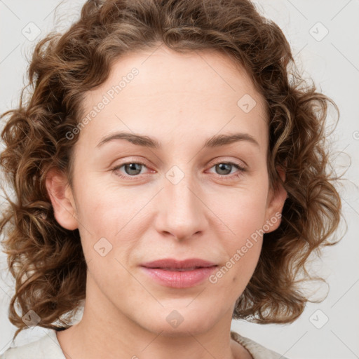
[[[30,309],[39,326],[68,327],[86,295],[86,261],[79,231],[57,223],[46,191],[52,168],[72,185],[72,154],[86,91],[100,86],[111,64],[159,44],[184,52],[217,50],[243,67],[266,100],[269,114],[268,173],[271,188],[288,198],[276,231],[264,234],[262,252],[234,319],[291,323],[309,301],[299,282],[312,252],[333,245],[341,217],[334,170],[325,144],[327,106],[337,105],[308,85],[276,23],[249,0],[88,0],[64,34],[50,32],[36,43],[29,64],[27,100],[1,114],[6,145],[0,165],[15,194],[0,219],[4,252],[15,278],[9,320],[18,332]],[[338,116],[339,118],[339,116]],[[72,133],[75,133],[73,131]],[[276,168],[285,170],[285,181]],[[299,280],[299,274],[304,278]],[[21,313],[15,311],[18,304]],[[56,323],[57,324],[56,324]]]

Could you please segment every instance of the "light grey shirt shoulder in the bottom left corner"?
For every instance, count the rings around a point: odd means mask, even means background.
[[[8,348],[0,359],[65,359],[55,330],[50,330],[40,339],[22,346]]]

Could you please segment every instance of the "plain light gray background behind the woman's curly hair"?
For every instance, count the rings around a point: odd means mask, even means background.
[[[83,0],[0,0],[1,113],[18,105],[27,69],[25,55],[29,58],[34,43],[54,27],[58,31],[65,29],[77,17],[83,3]],[[339,125],[329,140],[334,142],[334,149],[338,151],[333,156],[335,168],[338,172],[347,168],[344,175],[347,181],[341,188],[341,198],[348,231],[341,243],[326,249],[322,259],[313,264],[315,273],[323,276],[330,285],[330,292],[323,302],[309,303],[302,316],[291,325],[233,321],[232,329],[290,359],[359,358],[359,1],[257,0],[255,4],[259,11],[283,29],[299,68],[305,69],[304,76],[313,77],[318,90],[332,97],[339,106]],[[60,22],[54,22],[55,13],[60,16]],[[29,33],[29,26],[35,29],[34,25],[28,25],[29,22],[34,22],[41,31],[34,41],[22,34],[24,28],[24,32]],[[328,34],[323,37],[325,28]],[[32,34],[36,32],[32,31]],[[333,114],[330,111],[332,119]],[[0,198],[0,203],[2,201],[4,198]],[[0,255],[0,273],[2,353],[11,344],[15,332],[7,318],[13,282],[6,273],[3,253]],[[326,288],[320,287],[318,293],[325,292]],[[318,329],[321,325],[323,327]],[[38,327],[26,330],[19,334],[15,344],[33,341],[43,332],[46,330]]]

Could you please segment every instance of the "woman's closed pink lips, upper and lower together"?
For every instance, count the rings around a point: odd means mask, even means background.
[[[199,285],[215,271],[217,264],[203,259],[160,259],[141,265],[144,273],[165,287],[188,288]]]

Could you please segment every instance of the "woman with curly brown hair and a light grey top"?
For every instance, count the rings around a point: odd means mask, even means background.
[[[87,1],[39,41],[2,115],[0,230],[15,336],[50,332],[1,358],[283,358],[231,320],[301,315],[297,272],[341,209],[332,100],[290,65],[247,0]]]

